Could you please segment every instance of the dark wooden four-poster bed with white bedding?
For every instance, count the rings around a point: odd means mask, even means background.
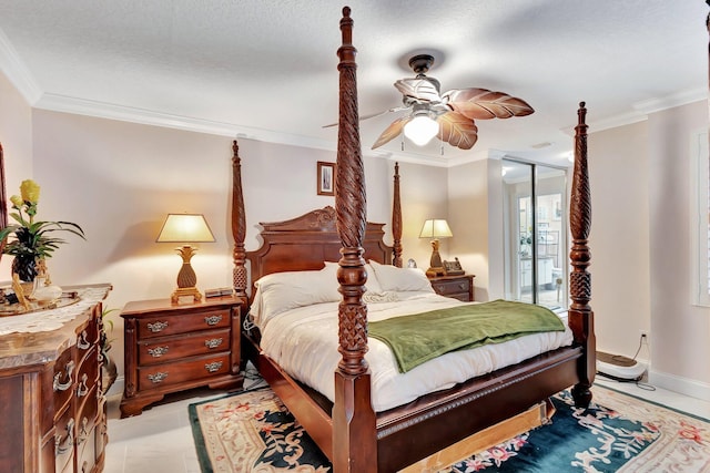
[[[375,357],[382,352],[382,343],[372,338],[368,340],[368,328],[374,323],[368,321],[368,317],[379,318],[379,307],[383,304],[388,310],[395,310],[396,306],[406,306],[410,299],[415,300],[415,306],[429,307],[429,298],[438,298],[438,302],[447,298],[428,294],[432,291],[417,286],[422,281],[414,271],[402,268],[398,166],[395,166],[394,176],[394,245],[390,247],[383,241],[384,224],[366,222],[355,49],[351,43],[353,22],[348,8],[343,10],[343,44],[338,49],[341,109],[335,208],[325,207],[285,222],[262,223],[261,248],[246,251],[241,158],[234,142],[234,286],[239,296],[250,300],[250,316],[245,319],[243,331],[244,360],[248,359],[254,363],[274,392],[331,459],[336,472],[402,470],[471,434],[515,418],[531,407],[544,404],[549,397],[569,387],[574,387],[576,405],[587,407],[591,400],[590,388],[595,376],[595,335],[594,313],[588,305],[590,275],[587,266],[590,254],[587,237],[590,227],[590,196],[584,103],[578,111],[576,127],[576,160],[570,200],[571,307],[564,331],[554,336],[530,336],[554,340],[550,345],[541,343],[541,348],[535,353],[523,354],[523,360],[514,359],[501,366],[494,364],[480,374],[466,374],[460,381],[444,381],[448,384],[434,388],[433,391],[430,387],[424,393],[410,390],[405,387],[403,376],[395,373],[389,381],[389,391],[406,391],[409,398],[390,400],[379,395],[382,374],[374,369],[371,371],[369,360],[375,366],[381,364],[375,361],[378,360]],[[247,276],[247,260],[251,278]],[[402,275],[406,275],[404,282]],[[324,284],[323,287],[327,288],[322,290],[321,282],[317,282],[321,278],[329,278],[327,281],[333,285]],[[383,281],[387,278],[390,285],[394,278],[397,281],[395,286],[406,287],[373,289],[375,284],[384,286]],[[248,281],[252,287],[247,295]],[[293,285],[286,285],[288,281]],[[275,318],[272,319],[268,315],[266,307],[272,302],[266,299],[267,288],[274,289],[271,297],[278,299],[281,307],[277,312],[290,311],[290,317],[294,317],[290,321],[291,326],[278,326],[274,322]],[[333,301],[333,290],[337,291],[337,301]],[[387,296],[382,300],[382,295],[393,292],[396,294],[393,298]],[[448,300],[450,304],[464,304]],[[308,369],[304,368],[305,373],[294,374],[300,367],[313,364],[314,361],[303,361],[294,358],[295,354],[284,352],[288,345],[300,345],[292,341],[293,337],[301,337],[295,330],[301,322],[298,318],[304,317],[305,320],[305,313],[300,311],[306,310],[304,306],[310,305],[308,301],[326,308],[316,313],[313,327],[333,326],[331,336],[334,341],[331,340],[331,350],[311,347],[316,361],[331,360],[322,364],[321,370],[323,366],[334,367],[329,371],[334,373],[326,377],[325,381],[331,383],[329,389],[321,388],[322,384],[317,381],[304,380],[308,376]],[[324,318],[325,312],[332,316],[329,321]],[[270,341],[266,347],[265,336],[270,331],[275,332],[276,338],[287,332],[290,338],[282,337],[281,345]],[[311,342],[298,340],[301,345]],[[499,351],[517,351],[518,348],[520,347],[516,346],[515,350]],[[283,358],[277,361],[280,353]],[[335,366],[333,356],[336,357]],[[449,353],[443,357],[448,356]],[[438,362],[435,367],[442,370],[444,366],[450,364],[449,361],[436,359],[424,364],[429,362]],[[417,370],[419,367],[405,376]],[[429,374],[424,378],[428,379]],[[402,384],[397,384],[399,382]],[[402,389],[397,389],[398,387]]]

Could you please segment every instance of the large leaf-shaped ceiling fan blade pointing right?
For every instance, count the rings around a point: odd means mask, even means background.
[[[446,92],[443,100],[448,100],[448,106],[470,120],[509,119],[535,112],[523,99],[487,89],[455,89]]]

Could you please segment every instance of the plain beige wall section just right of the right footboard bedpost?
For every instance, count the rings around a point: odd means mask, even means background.
[[[588,140],[591,188],[591,301],[597,347],[633,357],[650,329],[648,126],[646,122]],[[648,350],[639,358],[649,359]]]

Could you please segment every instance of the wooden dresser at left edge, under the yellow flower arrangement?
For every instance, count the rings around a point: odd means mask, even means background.
[[[91,288],[91,299],[55,309],[75,307],[75,317],[61,328],[0,336],[1,472],[103,470],[108,436],[99,340],[101,300],[111,285]]]

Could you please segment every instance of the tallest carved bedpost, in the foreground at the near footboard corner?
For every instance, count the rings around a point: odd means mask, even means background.
[[[335,209],[342,243],[337,279],[343,299],[338,306],[338,351],[333,405],[333,469],[336,473],[377,471],[375,412],[371,402],[367,352],[367,306],[363,301],[367,273],[363,238],[366,225],[364,165],[357,115],[356,50],[352,44],[351,9],[343,8],[339,64],[339,112]]]

